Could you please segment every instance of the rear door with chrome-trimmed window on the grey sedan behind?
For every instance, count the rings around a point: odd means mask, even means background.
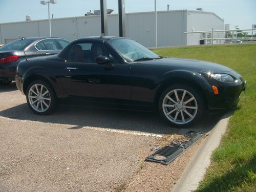
[[[61,50],[54,38],[38,41],[35,44],[35,48],[37,49],[38,56],[54,55],[59,53],[59,51]]]

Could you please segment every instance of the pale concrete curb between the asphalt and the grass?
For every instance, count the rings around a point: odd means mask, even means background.
[[[207,167],[210,165],[212,152],[220,145],[222,135],[226,132],[232,112],[224,114],[215,127],[208,132],[208,137],[202,142],[190,162],[187,164],[181,178],[172,192],[186,192],[196,190],[203,179]]]

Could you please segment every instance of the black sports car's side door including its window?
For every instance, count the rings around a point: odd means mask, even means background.
[[[98,47],[104,53],[95,53]],[[112,63],[97,64],[95,57],[99,55],[109,56]],[[75,99],[110,102],[131,99],[130,66],[118,63],[103,44],[74,44],[60,76],[66,93]]]

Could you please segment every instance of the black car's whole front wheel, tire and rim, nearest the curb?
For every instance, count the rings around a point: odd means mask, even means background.
[[[204,100],[196,89],[186,84],[174,84],[165,89],[158,102],[160,115],[174,127],[188,127],[204,113]],[[177,98],[178,97],[178,98]]]

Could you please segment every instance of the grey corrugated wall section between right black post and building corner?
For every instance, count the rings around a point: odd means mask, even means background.
[[[185,11],[157,13],[157,46],[186,45]],[[146,47],[156,46],[155,13],[127,14],[126,36]]]

